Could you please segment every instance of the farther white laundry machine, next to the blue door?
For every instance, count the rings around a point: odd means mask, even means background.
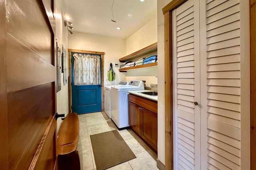
[[[108,115],[108,117],[111,119],[111,100],[110,100],[110,89],[112,86],[125,86],[128,82],[119,82],[118,85],[110,85],[104,87],[104,111]]]

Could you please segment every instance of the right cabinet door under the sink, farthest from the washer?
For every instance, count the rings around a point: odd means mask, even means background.
[[[141,137],[157,152],[157,114],[142,109],[142,133]]]

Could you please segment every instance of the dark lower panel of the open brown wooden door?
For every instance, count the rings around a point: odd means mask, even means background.
[[[49,100],[51,99],[51,100]],[[9,168],[26,169],[54,116],[54,83],[8,94]]]

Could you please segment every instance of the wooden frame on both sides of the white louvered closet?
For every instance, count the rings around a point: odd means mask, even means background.
[[[164,14],[164,81],[165,81],[165,169],[173,169],[173,82],[172,82],[172,10],[187,0],[172,0]],[[250,0],[250,166],[256,169],[256,0]]]

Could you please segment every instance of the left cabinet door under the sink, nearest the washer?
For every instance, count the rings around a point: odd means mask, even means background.
[[[141,135],[141,111],[140,106],[129,102],[129,125],[140,136]]]

